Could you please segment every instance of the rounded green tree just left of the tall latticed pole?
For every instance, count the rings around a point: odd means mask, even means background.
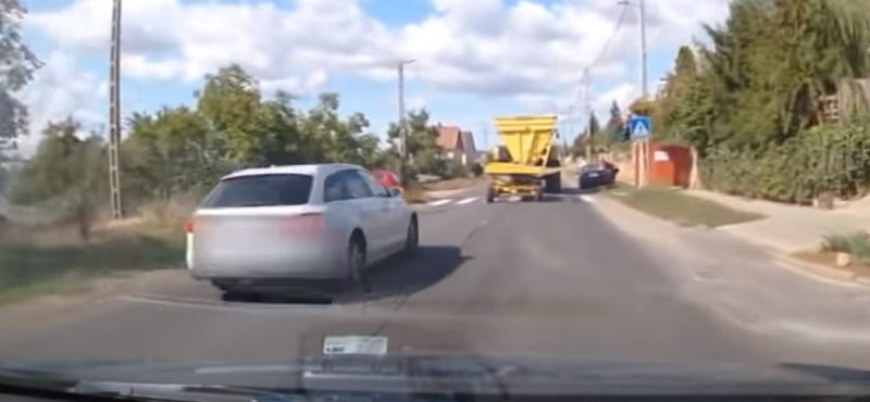
[[[97,211],[108,198],[107,160],[102,140],[94,135],[80,139],[79,129],[72,118],[49,124],[36,154],[14,181],[10,199],[61,210],[63,218],[74,222],[82,239],[88,240]]]

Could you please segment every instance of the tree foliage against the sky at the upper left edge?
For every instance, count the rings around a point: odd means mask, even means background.
[[[42,64],[22,41],[27,9],[18,0],[0,0],[0,141],[25,134],[27,108],[15,97]]]

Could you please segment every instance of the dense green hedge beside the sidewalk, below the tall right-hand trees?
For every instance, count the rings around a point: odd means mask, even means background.
[[[707,187],[731,194],[800,204],[860,196],[870,186],[870,126],[813,127],[762,150],[714,148],[699,167]]]

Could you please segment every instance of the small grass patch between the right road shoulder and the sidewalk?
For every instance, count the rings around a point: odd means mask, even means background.
[[[635,188],[618,183],[608,192],[626,205],[684,226],[719,227],[757,221],[763,215],[735,211],[673,188]]]

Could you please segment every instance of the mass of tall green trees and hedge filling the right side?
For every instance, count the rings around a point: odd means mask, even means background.
[[[823,97],[870,73],[870,3],[737,0],[705,30],[710,46],[676,56],[657,136],[694,146],[705,183],[722,191],[793,202],[861,191],[868,159],[842,155],[870,130],[819,126]],[[848,105],[867,116],[866,99]]]

